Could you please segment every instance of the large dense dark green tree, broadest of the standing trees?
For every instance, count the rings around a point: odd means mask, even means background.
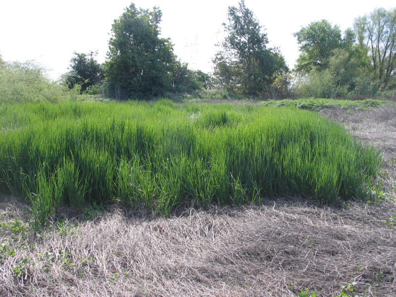
[[[158,96],[172,86],[176,63],[169,39],[159,38],[161,10],[134,3],[112,25],[105,76],[116,97]]]

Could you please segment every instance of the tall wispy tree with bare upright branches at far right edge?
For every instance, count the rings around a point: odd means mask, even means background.
[[[377,8],[354,21],[359,48],[382,89],[396,88],[396,8]]]

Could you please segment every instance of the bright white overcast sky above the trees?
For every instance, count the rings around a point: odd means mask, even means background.
[[[135,0],[137,7],[158,6],[162,36],[170,38],[174,53],[190,68],[212,71],[214,45],[224,38],[222,23],[228,6],[238,0]],[[131,0],[0,0],[0,54],[6,61],[36,60],[52,79],[67,72],[73,52],[99,51],[104,62],[111,25]],[[312,21],[326,19],[352,27],[354,18],[376,7],[390,9],[394,0],[245,0],[261,26],[269,46],[279,47],[293,68],[298,45],[293,33]]]

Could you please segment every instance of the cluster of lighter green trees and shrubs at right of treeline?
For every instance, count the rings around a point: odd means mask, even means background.
[[[295,33],[301,54],[297,95],[315,98],[378,96],[396,88],[396,10],[358,17],[344,37],[338,25],[312,22]],[[357,44],[355,44],[357,40]]]

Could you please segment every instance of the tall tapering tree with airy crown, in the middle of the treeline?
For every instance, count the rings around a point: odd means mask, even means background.
[[[228,7],[228,24],[223,26],[228,35],[213,59],[213,75],[220,86],[237,94],[259,95],[277,71],[288,70],[279,51],[267,49],[267,35],[244,0],[239,7]]]

